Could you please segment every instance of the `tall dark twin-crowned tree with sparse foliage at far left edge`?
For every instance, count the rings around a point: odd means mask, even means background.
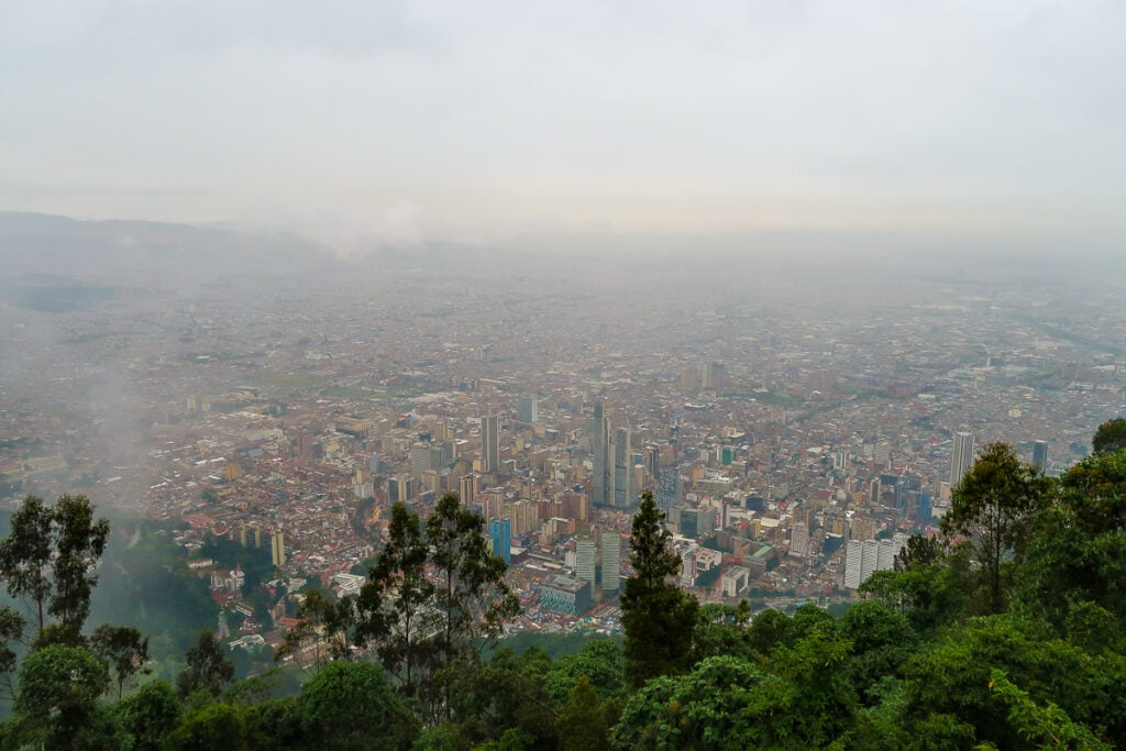
[[[109,522],[93,520],[84,495],[61,495],[54,507],[28,495],[12,515],[0,540],[0,579],[9,594],[30,600],[37,633],[48,626],[47,615],[57,618],[56,633],[45,641],[80,642],[108,536]]]

